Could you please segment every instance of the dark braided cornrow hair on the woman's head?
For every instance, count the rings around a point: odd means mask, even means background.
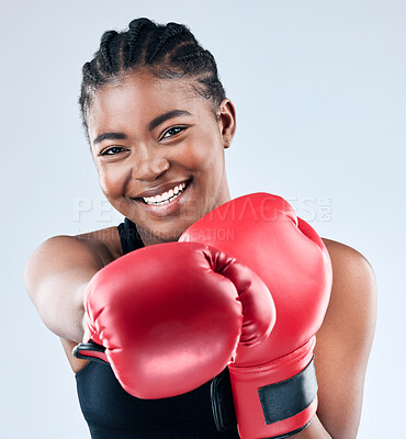
[[[194,90],[212,100],[214,108],[225,98],[213,55],[185,25],[136,19],[127,31],[104,32],[94,58],[83,65],[79,104],[84,128],[97,90],[138,68],[147,68],[158,78],[191,78]]]

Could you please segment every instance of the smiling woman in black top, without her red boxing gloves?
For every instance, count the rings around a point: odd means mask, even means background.
[[[230,200],[224,149],[236,112],[215,60],[185,26],[134,20],[126,32],[103,34],[83,66],[80,105],[100,187],[126,219],[46,240],[27,261],[25,283],[45,325],[60,337],[92,437],[237,438],[233,419],[217,432],[211,382],[170,398],[138,399],[109,364],[71,353],[83,338],[84,293],[98,271],[131,250],[178,240]],[[375,281],[358,251],[324,243],[334,282],[314,350],[319,403],[307,428],[292,437],[347,439],[357,436],[360,420]]]

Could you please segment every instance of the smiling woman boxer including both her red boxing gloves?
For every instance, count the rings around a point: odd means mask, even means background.
[[[25,284],[92,438],[354,438],[368,261],[277,195],[232,200],[235,106],[187,26],[108,31],[82,72],[100,188],[125,219],[47,239]]]

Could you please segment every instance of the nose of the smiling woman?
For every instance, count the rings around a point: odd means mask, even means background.
[[[135,154],[133,179],[153,181],[170,167],[163,151],[155,147],[139,147]]]

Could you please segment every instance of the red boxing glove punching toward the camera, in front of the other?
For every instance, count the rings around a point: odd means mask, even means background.
[[[261,279],[195,243],[132,251],[100,270],[84,296],[88,329],[75,356],[109,361],[140,398],[196,389],[234,360],[238,344],[258,345],[274,324]]]

